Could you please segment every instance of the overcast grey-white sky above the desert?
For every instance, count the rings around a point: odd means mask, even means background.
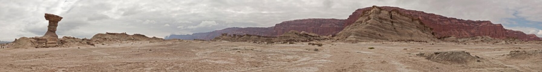
[[[43,13],[64,17],[57,34],[91,38],[127,32],[163,38],[227,27],[269,27],[305,18],[346,19],[354,10],[378,6],[491,20],[506,28],[542,36],[539,0],[0,0],[0,40],[39,37],[47,30]]]

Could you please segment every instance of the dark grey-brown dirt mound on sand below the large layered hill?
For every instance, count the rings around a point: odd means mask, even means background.
[[[435,52],[435,53],[420,53],[418,56],[425,57],[425,59],[444,63],[444,64],[467,64],[470,62],[480,62],[480,57],[472,56],[465,51],[452,51],[452,52]]]

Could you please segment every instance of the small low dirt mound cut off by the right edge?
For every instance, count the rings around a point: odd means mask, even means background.
[[[510,51],[504,56],[507,56],[508,59],[542,59],[542,51]]]

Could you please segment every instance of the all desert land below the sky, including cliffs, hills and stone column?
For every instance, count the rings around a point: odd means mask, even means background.
[[[0,71],[542,71],[534,34],[389,6],[166,39],[59,38],[62,17],[44,17],[43,36],[0,44]]]

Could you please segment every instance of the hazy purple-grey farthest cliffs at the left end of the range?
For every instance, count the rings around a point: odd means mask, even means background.
[[[274,34],[273,28],[274,27],[246,27],[246,28],[230,27],[230,28],[225,28],[223,30],[205,32],[205,33],[193,33],[193,34],[186,34],[186,35],[172,34],[165,37],[164,39],[211,40],[215,37],[221,36],[222,33],[237,34],[237,35],[251,34],[251,35],[261,35],[261,36],[273,36]]]

